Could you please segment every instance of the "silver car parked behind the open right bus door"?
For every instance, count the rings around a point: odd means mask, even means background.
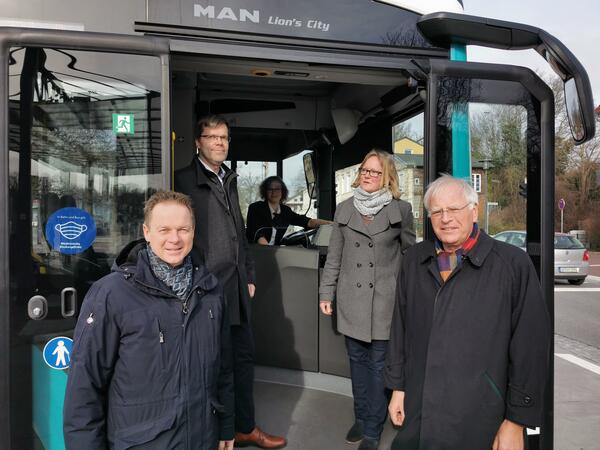
[[[527,250],[525,231],[502,231],[493,236],[502,242]],[[566,233],[554,234],[554,279],[571,284],[583,284],[590,267],[590,254],[575,237]]]

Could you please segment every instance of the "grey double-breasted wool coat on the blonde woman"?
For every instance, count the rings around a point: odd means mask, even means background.
[[[392,200],[367,224],[353,202],[337,207],[319,298],[335,302],[340,333],[387,340],[402,252],[415,243],[412,207]]]

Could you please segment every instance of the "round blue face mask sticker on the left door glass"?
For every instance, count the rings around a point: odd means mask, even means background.
[[[83,209],[62,208],[46,223],[46,239],[54,250],[66,255],[85,251],[96,240],[96,224]]]

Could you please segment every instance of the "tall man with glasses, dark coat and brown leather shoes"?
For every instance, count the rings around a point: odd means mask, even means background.
[[[286,440],[265,433],[254,421],[254,339],[250,326],[254,263],[248,254],[237,174],[223,164],[230,140],[229,125],[223,117],[201,118],[196,126],[196,155],[188,167],[175,173],[175,190],[192,198],[194,246],[203,255],[207,269],[219,279],[229,308],[235,440],[241,445],[280,448]]]

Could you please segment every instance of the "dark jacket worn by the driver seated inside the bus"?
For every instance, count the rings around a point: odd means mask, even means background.
[[[275,217],[271,216],[269,203],[260,201],[252,203],[248,207],[248,216],[246,220],[246,237],[248,242],[257,242],[259,238],[264,237],[271,242],[273,227],[276,228],[275,245],[281,243],[281,238],[285,234],[289,225],[306,228],[308,226],[308,217],[297,214],[287,205],[279,205],[280,213]]]

